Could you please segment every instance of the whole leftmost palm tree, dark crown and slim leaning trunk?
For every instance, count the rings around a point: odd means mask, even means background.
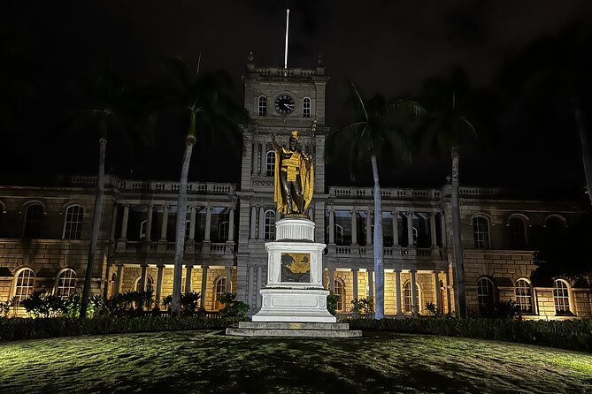
[[[81,318],[85,318],[88,308],[88,296],[92,280],[92,271],[95,260],[96,243],[101,225],[104,197],[104,162],[107,148],[107,135],[111,127],[120,126],[121,118],[118,115],[124,102],[126,90],[121,82],[111,73],[103,73],[94,84],[94,96],[96,102],[90,109],[82,110],[81,116],[85,121],[97,127],[99,135],[99,163],[98,177],[96,180],[96,197],[93,210],[93,228],[88,246],[87,271],[84,279],[84,288],[81,299]]]

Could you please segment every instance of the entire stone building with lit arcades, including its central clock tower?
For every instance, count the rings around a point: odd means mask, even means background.
[[[273,202],[275,156],[271,135],[287,143],[298,130],[311,153],[315,196],[309,215],[315,239],[327,243],[327,289],[350,301],[373,297],[373,189],[326,186],[325,91],[322,64],[314,69],[258,67],[245,75],[245,152],[240,184],[189,182],[182,291],[204,296],[218,310],[219,296],[234,292],[261,307],[266,284],[265,242],[279,219]],[[174,227],[179,185],[107,177],[91,291],[173,292]],[[62,178],[53,186],[0,186],[0,300],[34,291],[67,295],[83,286],[96,178]],[[456,278],[450,185],[434,189],[383,188],[385,314],[427,314],[427,304],[455,309]],[[592,316],[592,275],[557,278],[535,286],[533,245],[545,231],[569,226],[589,207],[577,201],[525,201],[504,191],[461,187],[461,232],[467,306],[475,311],[514,300],[525,317]]]

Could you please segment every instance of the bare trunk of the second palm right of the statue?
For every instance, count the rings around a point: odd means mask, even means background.
[[[465,292],[465,255],[460,239],[460,204],[458,196],[458,148],[451,149],[452,156],[452,246],[454,247],[454,273],[456,277],[456,304],[457,313],[461,318],[466,317],[466,292]]]

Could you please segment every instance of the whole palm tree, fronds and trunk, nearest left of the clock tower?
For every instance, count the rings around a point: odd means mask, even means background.
[[[185,149],[181,164],[179,197],[177,199],[177,219],[175,228],[175,256],[173,274],[173,300],[171,314],[181,314],[181,277],[185,251],[185,221],[187,218],[187,182],[191,154],[196,144],[197,129],[213,131],[214,126],[227,130],[238,153],[242,154],[242,129],[239,123],[246,123],[248,116],[228,97],[230,77],[227,72],[200,74],[201,55],[197,61],[196,72],[180,57],[169,57],[166,66],[172,77],[168,88],[167,105],[188,121]]]

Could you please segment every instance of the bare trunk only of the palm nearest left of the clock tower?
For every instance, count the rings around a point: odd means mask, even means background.
[[[188,135],[185,140],[185,153],[181,166],[181,180],[179,182],[179,198],[177,200],[177,226],[175,231],[173,300],[171,301],[171,315],[181,315],[181,278],[183,276],[183,255],[185,254],[185,221],[187,220],[187,178],[191,152],[196,144],[196,137]]]

